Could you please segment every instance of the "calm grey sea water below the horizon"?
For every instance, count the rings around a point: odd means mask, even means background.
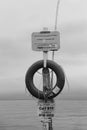
[[[42,130],[37,100],[0,101],[0,130]],[[87,101],[56,100],[53,130],[87,130]]]

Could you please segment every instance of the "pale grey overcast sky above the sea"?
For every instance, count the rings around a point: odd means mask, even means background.
[[[57,0],[0,1],[0,94],[25,92],[25,74],[42,52],[31,48],[31,34],[54,30]],[[87,90],[87,1],[60,0],[55,61],[67,76],[70,92]],[[67,82],[64,91],[67,90]],[[83,93],[84,95],[84,93]]]

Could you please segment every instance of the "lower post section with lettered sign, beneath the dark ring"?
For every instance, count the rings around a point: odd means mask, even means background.
[[[39,100],[38,107],[42,130],[53,130],[52,118],[54,117],[55,109],[54,100],[47,100],[47,102]]]

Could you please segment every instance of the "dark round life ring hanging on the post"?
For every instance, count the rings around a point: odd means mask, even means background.
[[[41,68],[43,68],[44,61],[40,60],[35,62],[31,67],[28,69],[26,76],[25,76],[25,84],[28,89],[28,91],[36,98],[44,100],[44,92],[41,90],[38,90],[38,88],[35,87],[33,83],[33,77],[34,74]],[[47,60],[47,68],[50,68],[53,70],[56,74],[57,77],[57,82],[52,90],[52,92],[48,95],[48,99],[53,99],[55,98],[60,92],[62,91],[64,84],[65,84],[65,75],[63,72],[63,69],[61,68],[60,65],[58,65],[56,62]],[[59,89],[58,92],[55,93],[55,89]]]

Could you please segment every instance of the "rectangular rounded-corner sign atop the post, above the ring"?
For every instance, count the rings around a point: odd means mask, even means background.
[[[58,31],[42,31],[32,33],[32,50],[57,51],[60,48],[60,33]]]

